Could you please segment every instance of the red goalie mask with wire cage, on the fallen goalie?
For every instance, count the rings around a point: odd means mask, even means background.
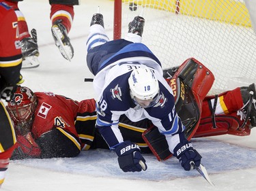
[[[13,99],[6,107],[16,129],[18,128],[22,135],[31,131],[36,105],[35,94],[27,87],[18,86]]]

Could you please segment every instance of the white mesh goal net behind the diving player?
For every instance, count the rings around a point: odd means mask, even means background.
[[[243,0],[123,0],[121,37],[139,14],[142,42],[164,69],[196,58],[214,73],[211,93],[256,82],[256,36]]]

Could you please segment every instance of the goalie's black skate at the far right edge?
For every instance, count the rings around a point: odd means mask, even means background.
[[[250,104],[250,96],[253,97],[251,103],[251,111],[249,114],[251,126],[256,126],[256,87],[255,84],[251,84],[248,87],[241,87],[242,100],[244,103],[244,110],[247,111],[248,105]]]

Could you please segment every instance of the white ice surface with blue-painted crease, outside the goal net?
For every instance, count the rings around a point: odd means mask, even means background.
[[[82,0],[75,6],[75,17],[70,31],[74,58],[65,60],[51,36],[50,5],[48,1],[26,0],[20,10],[29,29],[37,29],[40,48],[40,67],[23,69],[24,86],[33,91],[51,91],[81,101],[95,96],[93,77],[85,62],[85,41],[89,23],[98,5],[104,15],[109,37],[113,38],[113,1]],[[126,30],[126,29],[124,29]],[[147,33],[147,31],[144,31]],[[186,172],[176,158],[158,162],[153,155],[145,155],[148,169],[141,173],[123,173],[117,156],[109,150],[82,152],[76,158],[20,160],[10,162],[2,190],[255,190],[256,187],[256,133],[247,137],[232,135],[193,139],[203,156],[202,164],[208,170],[215,186],[210,186],[197,171]]]

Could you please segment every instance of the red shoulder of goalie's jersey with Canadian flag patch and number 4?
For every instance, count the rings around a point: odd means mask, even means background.
[[[77,135],[74,120],[79,109],[78,102],[51,92],[35,92],[35,95],[38,98],[32,126],[35,139],[52,128],[63,128],[66,132]]]

